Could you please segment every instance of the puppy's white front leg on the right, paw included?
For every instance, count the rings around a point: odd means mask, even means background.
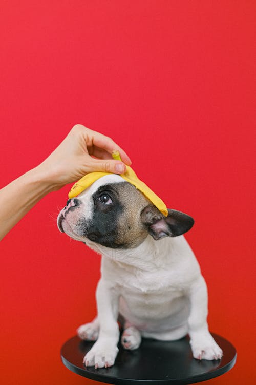
[[[222,357],[222,350],[208,330],[208,295],[205,280],[200,276],[189,288],[190,314],[188,333],[193,357],[197,359],[217,360]]]

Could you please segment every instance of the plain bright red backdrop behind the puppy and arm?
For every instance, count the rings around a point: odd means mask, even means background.
[[[210,329],[238,350],[219,385],[255,380],[255,11],[233,0],[1,2],[1,186],[76,123],[122,146],[169,207],[195,218],[186,238],[208,284]],[[69,188],[0,245],[5,385],[95,383],[59,355],[95,315],[100,264],[58,232]]]

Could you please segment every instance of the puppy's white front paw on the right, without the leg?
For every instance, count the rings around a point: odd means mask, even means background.
[[[198,360],[219,360],[223,352],[215,340],[209,335],[207,338],[190,340],[193,357]]]

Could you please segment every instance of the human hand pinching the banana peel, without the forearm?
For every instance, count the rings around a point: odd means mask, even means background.
[[[112,159],[113,151],[120,152],[123,162]],[[59,189],[93,171],[122,174],[125,163],[131,165],[130,158],[111,138],[76,124],[38,168]]]

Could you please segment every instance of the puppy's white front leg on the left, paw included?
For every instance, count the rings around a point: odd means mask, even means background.
[[[109,282],[102,279],[96,291],[98,319],[100,324],[98,340],[84,357],[86,366],[95,368],[108,368],[114,365],[118,353],[119,340],[118,302],[117,290]]]

